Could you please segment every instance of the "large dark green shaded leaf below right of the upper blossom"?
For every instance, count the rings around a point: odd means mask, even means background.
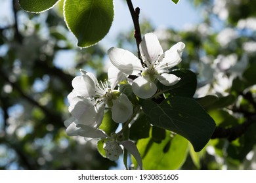
[[[148,122],[182,135],[190,141],[196,152],[207,144],[215,122],[194,100],[187,97],[169,97],[157,104],[151,100],[142,103]]]

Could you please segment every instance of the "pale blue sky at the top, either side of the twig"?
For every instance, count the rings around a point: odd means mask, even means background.
[[[102,40],[109,46],[121,31],[133,27],[131,14],[125,1],[114,0],[115,17],[108,35]],[[200,12],[188,0],[180,0],[175,5],[171,0],[133,0],[133,6],[140,8],[140,21],[150,20],[154,27],[171,27],[177,30],[200,22]],[[114,45],[112,45],[114,46]]]

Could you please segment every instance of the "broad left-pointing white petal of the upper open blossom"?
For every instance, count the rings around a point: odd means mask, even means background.
[[[140,59],[134,54],[121,48],[110,48],[108,50],[108,57],[111,63],[120,71],[127,75],[137,75],[144,70]]]

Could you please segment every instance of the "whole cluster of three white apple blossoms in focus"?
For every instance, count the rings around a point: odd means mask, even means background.
[[[108,80],[98,81],[93,73],[80,70],[81,75],[72,80],[74,90],[68,95],[68,107],[72,117],[64,122],[66,133],[70,136],[81,136],[88,139],[104,140],[106,158],[117,160],[125,148],[131,153],[140,168],[142,159],[136,145],[125,139],[123,129],[113,131],[109,136],[100,125],[106,109],[111,110],[112,120],[125,127],[134,120],[139,104],[134,105],[125,93],[119,90],[120,82],[131,84],[137,99],[150,99],[158,93],[156,82],[171,86],[181,78],[169,74],[168,71],[181,62],[184,43],[178,42],[166,52],[163,52],[160,42],[154,33],[144,35],[140,43],[140,59],[134,54],[121,48],[110,48],[108,56],[112,66],[108,69]],[[129,75],[137,78],[128,80]],[[121,147],[123,146],[123,148]]]

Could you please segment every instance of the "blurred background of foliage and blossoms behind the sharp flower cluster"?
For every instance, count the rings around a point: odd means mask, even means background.
[[[255,2],[188,1],[200,10],[200,24],[177,31],[143,20],[141,32],[154,31],[163,50],[178,41],[186,44],[179,67],[197,74],[194,97],[223,136],[213,134],[198,153],[189,146],[182,157],[173,148],[165,159],[172,159],[175,169],[256,169]],[[85,69],[104,80],[108,48],[100,43],[77,48],[59,7],[31,14],[16,0],[11,5],[10,21],[0,25],[0,169],[116,168],[117,162],[98,154],[95,141],[68,137],[63,124],[70,117],[66,96],[72,79]],[[133,27],[117,35],[117,42],[136,54]]]

